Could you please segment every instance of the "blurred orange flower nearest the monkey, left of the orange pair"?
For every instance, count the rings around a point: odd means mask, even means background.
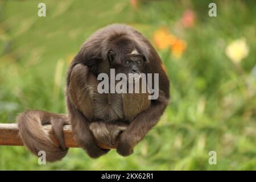
[[[154,33],[154,42],[159,49],[166,49],[175,41],[175,36],[171,35],[167,28],[160,28]]]

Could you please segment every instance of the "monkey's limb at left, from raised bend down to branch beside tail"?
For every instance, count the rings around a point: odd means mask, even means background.
[[[84,148],[91,158],[98,158],[109,150],[101,149],[94,142],[92,132],[89,129],[88,119],[93,115],[92,96],[90,94],[92,80],[89,80],[88,67],[77,64],[70,72],[70,82],[67,86],[68,117],[73,129],[73,137]]]

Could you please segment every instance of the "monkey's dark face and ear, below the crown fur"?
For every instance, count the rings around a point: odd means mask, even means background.
[[[110,68],[115,69],[115,75],[123,73],[129,78],[130,75],[134,76],[134,81],[141,77],[144,73],[146,64],[146,57],[139,53],[130,53],[117,55],[113,51],[109,51],[109,64]]]

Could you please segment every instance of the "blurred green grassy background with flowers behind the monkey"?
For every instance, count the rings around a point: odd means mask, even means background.
[[[46,17],[38,4],[46,3]],[[217,16],[210,17],[210,2]],[[158,125],[123,158],[71,148],[39,165],[24,147],[0,146],[0,169],[256,170],[255,1],[0,1],[0,122],[26,109],[65,113],[65,75],[82,43],[129,24],[158,51],[172,99]],[[217,164],[208,163],[216,151]]]

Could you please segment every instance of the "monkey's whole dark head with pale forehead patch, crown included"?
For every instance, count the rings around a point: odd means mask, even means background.
[[[108,61],[110,68],[115,69],[115,75],[124,73],[127,78],[129,74],[140,77],[141,73],[145,73],[147,64],[141,49],[129,39],[114,42],[108,52]]]

